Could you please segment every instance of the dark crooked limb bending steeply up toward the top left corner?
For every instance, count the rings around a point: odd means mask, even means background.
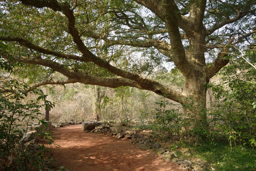
[[[171,89],[168,89],[165,86],[163,86],[163,85],[161,85],[157,82],[154,82],[153,80],[143,79],[139,75],[132,74],[131,72],[123,71],[123,70],[120,70],[119,68],[113,67],[108,62],[106,62],[106,61],[100,59],[99,57],[95,56],[94,54],[92,54],[88,50],[88,48],[84,45],[82,39],[80,39],[78,30],[76,30],[76,27],[75,27],[75,17],[74,17],[74,14],[73,14],[72,10],[70,9],[70,6],[68,5],[68,3],[58,3],[58,2],[53,1],[53,0],[52,1],[42,0],[39,3],[40,5],[38,6],[37,1],[22,0],[22,2],[23,3],[26,2],[25,4],[27,4],[27,5],[33,5],[33,6],[36,6],[36,7],[45,6],[45,7],[51,8],[52,10],[62,11],[62,13],[64,13],[64,15],[66,15],[66,17],[68,18],[68,30],[70,31],[70,34],[72,35],[74,42],[78,46],[79,50],[82,52],[83,57],[88,59],[87,61],[94,62],[98,66],[106,68],[108,71],[112,72],[113,74],[116,74],[116,75],[119,75],[119,76],[123,77],[123,79],[129,79],[130,81],[132,80],[132,81],[136,82],[138,85],[141,86],[141,89],[148,89],[148,90],[156,92],[160,95],[165,95],[165,94],[169,95],[170,96],[169,98],[171,98],[172,100],[176,100],[176,101],[177,101],[177,98],[178,98],[177,95],[181,95],[180,92],[176,92],[176,91],[173,91]],[[52,2],[52,3],[49,3],[49,2]],[[58,3],[58,4],[56,4],[56,3]],[[181,39],[180,39],[180,42],[181,42]],[[183,48],[182,48],[182,50],[184,51]],[[177,54],[176,58],[179,58],[178,55],[180,55],[180,54]],[[184,56],[184,58],[185,58],[185,56]],[[31,60],[31,59],[29,59],[29,60]],[[38,61],[40,59],[34,59],[34,60]],[[32,60],[31,60],[31,62],[32,62]],[[45,61],[41,63],[41,65],[44,65],[44,64],[46,64]],[[182,65],[182,64],[180,63],[180,65]],[[58,72],[62,73],[62,71],[60,71],[60,70]],[[68,72],[65,73],[64,75],[66,75],[68,78],[71,78],[70,74]],[[73,73],[73,75],[74,75],[74,73]],[[76,73],[76,75],[77,75],[77,73]],[[82,78],[81,76],[84,76],[84,75],[80,73],[79,78]],[[100,79],[100,78],[97,78],[97,79]],[[90,84],[90,82],[85,82],[85,83]],[[93,83],[93,84],[96,84],[96,83]],[[107,82],[105,82],[104,84],[107,85]],[[104,86],[104,85],[99,85],[99,86]],[[135,86],[132,86],[132,87],[135,87]],[[136,86],[136,87],[139,88],[139,86]],[[181,95],[181,97],[182,97],[182,95]]]

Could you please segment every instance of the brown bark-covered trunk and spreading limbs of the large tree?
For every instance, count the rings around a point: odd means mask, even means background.
[[[206,84],[209,83],[210,78],[212,78],[218,71],[220,71],[222,67],[224,67],[229,62],[229,60],[226,59],[229,48],[224,47],[218,54],[217,58],[214,60],[213,64],[206,65],[206,36],[213,34],[214,31],[229,23],[238,21],[238,19],[241,19],[249,13],[254,13],[256,9],[237,11],[237,15],[230,14],[230,16],[225,16],[225,19],[221,19],[222,21],[216,22],[215,24],[213,23],[210,28],[206,29],[204,25],[206,2],[208,2],[206,0],[191,0],[188,1],[188,3],[185,3],[184,9],[188,10],[186,14],[181,13],[181,10],[179,10],[180,7],[177,5],[177,1],[134,1],[139,3],[140,5],[147,7],[147,9],[151,10],[158,17],[157,19],[161,19],[162,23],[157,23],[157,25],[161,25],[161,28],[157,28],[157,26],[156,30],[155,28],[150,29],[151,26],[148,26],[149,29],[143,27],[143,29],[141,30],[136,30],[137,28],[134,28],[131,35],[123,36],[123,34],[120,34],[120,37],[116,36],[118,32],[115,32],[116,38],[115,36],[113,36],[114,38],[112,38],[111,36],[107,36],[108,34],[110,34],[110,32],[108,31],[105,32],[106,36],[100,35],[97,33],[97,31],[94,30],[90,31],[90,35],[83,35],[84,32],[79,30],[81,28],[80,26],[78,26],[78,23],[76,23],[78,22],[78,19],[76,19],[78,15],[74,14],[75,8],[73,9],[73,7],[71,7],[68,2],[60,2],[57,0],[21,0],[21,2],[25,5],[34,6],[37,8],[46,7],[47,9],[51,9],[54,11],[58,11],[58,13],[61,13],[62,17],[65,18],[65,20],[63,19],[63,21],[67,22],[66,25],[68,35],[72,37],[72,43],[68,44],[68,46],[71,46],[71,44],[73,46],[73,44],[75,44],[75,48],[78,51],[74,52],[74,54],[64,54],[65,50],[54,50],[54,48],[50,49],[49,47],[51,46],[47,46],[47,44],[42,45],[40,43],[36,44],[36,41],[33,43],[33,40],[31,40],[30,38],[30,33],[27,33],[27,37],[29,37],[28,39],[26,37],[26,32],[22,34],[6,33],[4,35],[0,35],[0,40],[3,40],[5,42],[17,42],[19,43],[19,46],[26,47],[28,51],[36,51],[39,52],[39,54],[46,54],[46,56],[51,56],[50,58],[41,58],[40,56],[33,56],[33,53],[32,56],[22,56],[21,54],[17,53],[15,54],[15,60],[17,60],[18,62],[39,64],[44,67],[49,67],[52,70],[60,72],[67,77],[66,80],[43,80],[40,83],[34,84],[35,87],[39,87],[45,84],[66,84],[80,82],[84,84],[92,84],[111,88],[130,86],[140,89],[147,89],[148,91],[155,92],[158,95],[166,96],[170,100],[181,103],[184,107],[185,113],[193,117],[195,123],[204,123],[206,121],[206,115],[200,115],[200,113],[204,114],[201,109],[206,108]],[[181,4],[182,2],[179,3]],[[105,11],[105,13],[107,14],[109,13],[109,11]],[[127,17],[128,15],[125,16]],[[143,17],[140,17],[140,19],[142,18]],[[113,19],[118,20],[119,18]],[[126,22],[120,21],[120,23],[118,23],[117,25],[120,24],[120,27],[123,27],[123,25],[125,25],[126,23],[126,26],[123,28],[131,28],[129,22],[134,23],[133,18],[127,18]],[[143,25],[145,25],[145,22],[143,23]],[[48,25],[45,26],[47,27]],[[96,26],[99,25],[96,24]],[[138,27],[138,29],[139,28],[140,27]],[[136,37],[137,35],[133,34],[136,31],[139,32],[139,35],[141,35],[139,36],[139,38],[141,38],[139,40]],[[59,30],[59,32],[62,31]],[[65,30],[64,32],[67,31]],[[126,33],[128,33],[128,31]],[[154,36],[152,36],[154,34],[155,37],[158,37],[159,34],[164,34],[164,38],[154,39]],[[64,34],[62,36],[66,37],[66,35]],[[135,74],[133,72],[129,72],[128,70],[121,70],[121,68],[116,67],[114,64],[109,63],[109,61],[104,60],[104,58],[96,56],[95,53],[91,52],[90,48],[86,46],[84,41],[87,38],[103,40],[105,44],[107,44],[106,47],[114,46],[117,44],[122,46],[132,46],[139,48],[156,48],[159,52],[170,58],[174,62],[175,66],[181,71],[182,75],[184,75],[185,85],[183,91],[174,91],[173,89],[159,82],[156,82],[155,80],[144,78],[143,76]],[[184,45],[184,38],[188,40],[188,49]],[[0,55],[3,58],[10,59],[9,55]],[[95,74],[90,75],[90,72],[87,73],[87,71],[84,70],[71,70],[71,67],[67,67],[64,66],[62,63],[58,63],[58,60],[64,60],[66,62],[73,60],[75,63],[95,64],[97,67],[104,68],[104,70],[111,72],[111,76],[100,77]],[[96,113],[95,115],[96,119],[99,119],[97,116],[100,115],[101,97],[99,94],[99,89],[96,87],[95,98],[96,103],[99,104],[99,113]],[[196,109],[196,111],[194,112],[188,111],[188,109],[186,108],[188,104],[193,104],[198,109]]]

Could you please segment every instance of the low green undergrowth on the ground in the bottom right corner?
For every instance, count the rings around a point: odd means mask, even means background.
[[[220,141],[215,144],[205,143],[191,146],[176,142],[169,149],[180,158],[194,162],[205,162],[208,170],[216,171],[248,171],[256,170],[256,151],[243,146],[234,146],[230,150],[228,143]]]

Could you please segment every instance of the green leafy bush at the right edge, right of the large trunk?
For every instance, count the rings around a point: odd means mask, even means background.
[[[256,100],[256,87],[253,83],[232,80],[229,88],[214,86],[215,110],[211,114],[213,129],[225,135],[232,145],[255,146],[256,110],[253,102]]]

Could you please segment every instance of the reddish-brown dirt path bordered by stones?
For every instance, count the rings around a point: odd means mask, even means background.
[[[82,125],[54,129],[54,158],[72,171],[180,170],[150,150],[139,150],[129,139],[82,131]]]

